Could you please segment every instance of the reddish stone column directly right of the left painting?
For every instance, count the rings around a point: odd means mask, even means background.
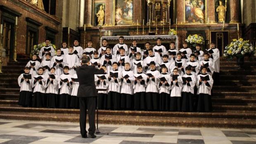
[[[137,20],[138,24],[142,24],[142,2],[141,0],[133,0],[133,25],[137,26]]]

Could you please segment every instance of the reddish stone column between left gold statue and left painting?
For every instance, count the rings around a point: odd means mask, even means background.
[[[105,24],[104,26],[113,26],[113,0],[106,0]]]

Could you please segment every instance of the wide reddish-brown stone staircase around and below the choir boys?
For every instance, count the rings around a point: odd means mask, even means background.
[[[0,74],[0,118],[79,121],[78,109],[23,108],[17,78],[28,59],[9,62]],[[189,127],[256,127],[256,62],[220,59],[220,85],[213,86],[213,112],[99,110],[99,123]]]

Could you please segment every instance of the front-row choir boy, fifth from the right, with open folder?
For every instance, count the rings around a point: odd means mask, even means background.
[[[156,64],[151,61],[150,70],[147,71],[147,88],[146,88],[146,107],[149,111],[159,109],[159,77],[160,73],[156,70]]]

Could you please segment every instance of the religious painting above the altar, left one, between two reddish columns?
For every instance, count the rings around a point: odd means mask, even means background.
[[[115,0],[114,12],[116,26],[133,24],[133,0]]]

